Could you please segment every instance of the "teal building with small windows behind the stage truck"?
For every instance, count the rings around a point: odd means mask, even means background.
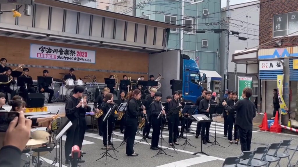
[[[193,28],[171,29],[167,49],[180,49],[182,53],[195,59],[199,69],[206,72],[207,77],[211,77],[209,89],[215,92],[219,92],[219,82],[215,79],[220,77],[218,74],[220,33],[212,30],[220,28],[222,21],[220,10],[221,4],[217,0],[136,1],[136,17]],[[198,33],[196,30],[205,32]],[[205,87],[207,88],[206,85]]]

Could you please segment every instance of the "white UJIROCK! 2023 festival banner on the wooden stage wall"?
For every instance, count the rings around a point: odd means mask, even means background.
[[[59,60],[67,62],[95,63],[95,51],[31,44],[30,58]]]

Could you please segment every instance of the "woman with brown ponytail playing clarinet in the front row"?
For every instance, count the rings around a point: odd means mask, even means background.
[[[141,99],[141,91],[135,89],[128,101],[127,111],[126,111],[126,130],[127,143],[126,143],[126,154],[128,156],[138,156],[139,154],[134,152],[134,140],[136,138],[136,130],[138,127],[138,117],[146,114],[146,110],[140,111],[140,105],[138,100]]]

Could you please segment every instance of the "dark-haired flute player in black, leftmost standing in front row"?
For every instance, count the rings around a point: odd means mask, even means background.
[[[80,145],[79,119],[80,108],[82,108],[83,101],[79,100],[84,92],[83,86],[75,86],[74,94],[69,97],[65,104],[66,117],[72,122],[72,126],[66,131],[65,141],[65,163],[69,164],[69,154],[72,146]],[[83,108],[82,108],[83,109]]]

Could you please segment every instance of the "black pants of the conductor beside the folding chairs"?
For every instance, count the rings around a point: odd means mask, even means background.
[[[241,151],[250,151],[250,144],[252,142],[252,129],[242,129],[238,126],[238,132],[241,144]]]

